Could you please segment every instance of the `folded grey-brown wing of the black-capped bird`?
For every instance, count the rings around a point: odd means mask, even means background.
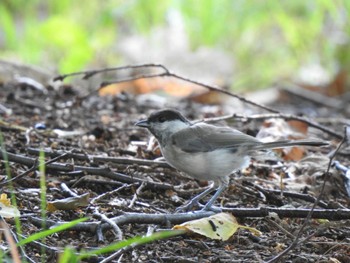
[[[229,127],[198,123],[172,136],[172,143],[185,152],[209,152],[217,149],[238,149],[261,144],[256,138]]]

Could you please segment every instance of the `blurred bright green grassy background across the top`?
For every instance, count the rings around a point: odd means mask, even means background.
[[[2,0],[0,57],[59,73],[120,66],[130,63],[118,48],[126,37],[180,23],[190,52],[225,52],[234,63],[229,85],[256,89],[305,65],[330,76],[349,68],[349,8],[346,0]]]

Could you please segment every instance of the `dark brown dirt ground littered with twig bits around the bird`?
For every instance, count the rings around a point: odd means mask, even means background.
[[[96,223],[95,227],[63,231],[48,237],[45,245],[47,262],[57,261],[65,246],[79,251],[117,241],[115,232],[105,223],[103,216],[174,214],[178,206],[200,191],[199,188],[208,185],[207,182],[188,179],[164,164],[133,162],[136,158],[154,160],[160,157],[159,151],[147,149],[150,134],[135,127],[134,123],[165,106],[179,109],[192,120],[220,117],[227,107],[224,110],[224,106],[209,107],[187,99],[169,99],[162,104],[151,98],[145,100],[128,93],[102,97],[74,84],[47,87],[47,90],[34,88],[28,83],[1,84],[0,104],[4,108],[1,109],[0,127],[4,149],[11,154],[11,176],[18,176],[12,183],[21,212],[23,235],[41,230],[40,177],[35,169],[40,149],[45,152],[46,161],[56,158],[46,169],[47,201],[71,197],[72,192],[73,195],[88,193],[89,198],[88,203],[81,207],[47,212],[47,225],[84,216],[89,218],[88,222]],[[347,110],[332,109],[291,95],[288,100],[275,101],[270,106],[284,113],[305,114],[340,134],[344,125],[341,119],[347,118]],[[235,105],[230,107],[229,111]],[[249,107],[247,115],[261,112]],[[256,135],[262,121],[231,119],[218,124],[232,125]],[[76,134],[62,134],[62,131]],[[300,166],[300,161],[286,158],[253,161],[247,170],[232,176],[229,189],[221,195],[217,205],[227,208],[311,208],[314,199],[307,197],[318,196],[328,164],[321,160],[327,158],[340,141],[315,127],[309,127],[307,136],[311,135],[330,142],[328,147],[308,148],[303,153],[306,157],[315,157],[315,165],[306,163]],[[348,167],[348,158],[349,152],[343,148],[336,160]],[[9,178],[3,161],[1,168],[1,193],[10,195],[9,183],[4,183]],[[284,191],[300,194],[299,197],[278,192],[281,176],[284,177]],[[101,196],[103,194],[106,195]],[[99,198],[94,199],[96,197]],[[342,173],[334,168],[322,201],[323,205],[316,208],[344,209],[349,206]],[[181,219],[178,221],[180,223]],[[280,218],[271,214],[265,217],[240,216],[238,221],[258,229],[262,235],[254,236],[247,230],[239,230],[228,241],[182,235],[127,249],[108,262],[265,262],[294,241],[305,218]],[[14,221],[7,219],[6,222],[15,231]],[[101,225],[102,228],[96,227]],[[148,231],[169,229],[173,225],[173,222],[153,222],[142,217],[118,223],[124,239],[145,235]],[[2,239],[5,246],[4,242]],[[311,219],[299,242],[281,262],[350,262],[349,220]],[[26,245],[27,257],[39,262],[42,247],[40,242]],[[90,258],[86,262],[100,262],[108,256]]]

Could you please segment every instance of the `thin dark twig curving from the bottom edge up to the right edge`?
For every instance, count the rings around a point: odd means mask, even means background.
[[[277,256],[273,257],[272,259],[270,259],[269,261],[267,261],[268,263],[270,262],[277,262],[279,261],[280,259],[282,259],[283,256],[285,256],[289,251],[291,251],[292,249],[294,249],[296,246],[300,245],[301,243],[304,242],[304,240],[300,241],[299,242],[299,239],[301,238],[301,234],[302,232],[304,231],[304,228],[309,224],[309,221],[310,219],[312,218],[312,215],[315,211],[315,208],[316,208],[316,205],[318,204],[318,202],[321,200],[321,196],[322,194],[324,193],[324,189],[325,189],[325,186],[326,186],[326,181],[328,180],[329,178],[329,175],[330,175],[330,169],[331,169],[331,166],[332,166],[332,162],[333,162],[333,159],[335,158],[337,152],[339,151],[340,147],[343,145],[343,143],[345,143],[347,141],[347,132],[346,132],[346,127],[344,128],[344,137],[343,139],[339,142],[337,148],[334,150],[334,152],[332,153],[332,155],[330,156],[329,158],[329,163],[328,163],[328,167],[327,167],[327,171],[326,171],[326,174],[325,174],[325,178],[324,178],[324,181],[323,181],[323,184],[322,184],[322,188],[321,188],[321,191],[320,191],[320,194],[318,195],[317,197],[317,200],[314,202],[313,206],[311,207],[311,210],[309,212],[309,214],[307,215],[306,217],[306,220],[305,222],[303,223],[303,225],[300,227],[297,235],[296,235],[296,238],[294,239],[293,243],[288,247],[286,248],[284,251],[282,251],[280,254],[278,254]]]

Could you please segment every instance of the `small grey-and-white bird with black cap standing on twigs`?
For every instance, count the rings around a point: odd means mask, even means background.
[[[327,145],[325,142],[312,140],[261,142],[230,127],[203,122],[192,124],[180,112],[172,109],[156,111],[135,125],[147,128],[154,135],[163,157],[172,167],[195,179],[214,181],[211,187],[177,211],[192,209],[199,204],[199,200],[217,188],[202,209],[210,210],[214,201],[228,186],[229,175],[247,167],[254,151],[295,145]]]

